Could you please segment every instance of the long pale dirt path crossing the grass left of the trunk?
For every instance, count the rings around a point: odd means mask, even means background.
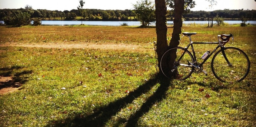
[[[77,48],[77,49],[107,49],[107,50],[127,50],[127,51],[152,51],[151,44],[115,44],[115,43],[5,43],[1,46],[21,46],[36,48]]]

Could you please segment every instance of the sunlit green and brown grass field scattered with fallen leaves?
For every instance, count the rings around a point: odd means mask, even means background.
[[[203,73],[185,81],[158,82],[154,52],[0,47],[0,75],[20,90],[0,95],[2,126],[255,126],[255,26],[184,27],[194,42],[235,35],[251,61],[244,81],[229,84]],[[76,32],[74,32],[76,31]],[[172,28],[168,28],[171,33]],[[127,43],[155,40],[155,28],[126,26],[0,27],[1,44]],[[118,34],[117,34],[118,33]],[[45,37],[45,39],[43,39]],[[183,37],[180,46],[187,45]],[[215,46],[195,45],[198,57]],[[211,58],[210,58],[211,59]],[[26,97],[26,98],[25,98]]]

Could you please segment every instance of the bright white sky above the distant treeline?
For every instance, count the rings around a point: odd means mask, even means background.
[[[102,9],[102,10],[125,10],[133,9],[133,4],[139,0],[83,0],[85,1],[84,9]],[[191,10],[211,11],[209,2],[206,0],[195,0],[197,4]],[[79,0],[0,0],[0,9],[18,9],[24,8],[26,5],[32,6],[33,9],[46,10],[72,10],[77,9]],[[212,10],[224,9],[244,9],[256,10],[256,2],[254,0],[217,0]]]

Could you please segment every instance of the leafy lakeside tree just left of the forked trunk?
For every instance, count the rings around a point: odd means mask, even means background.
[[[151,0],[140,0],[133,4],[136,18],[141,22],[142,27],[155,21],[155,5]]]

